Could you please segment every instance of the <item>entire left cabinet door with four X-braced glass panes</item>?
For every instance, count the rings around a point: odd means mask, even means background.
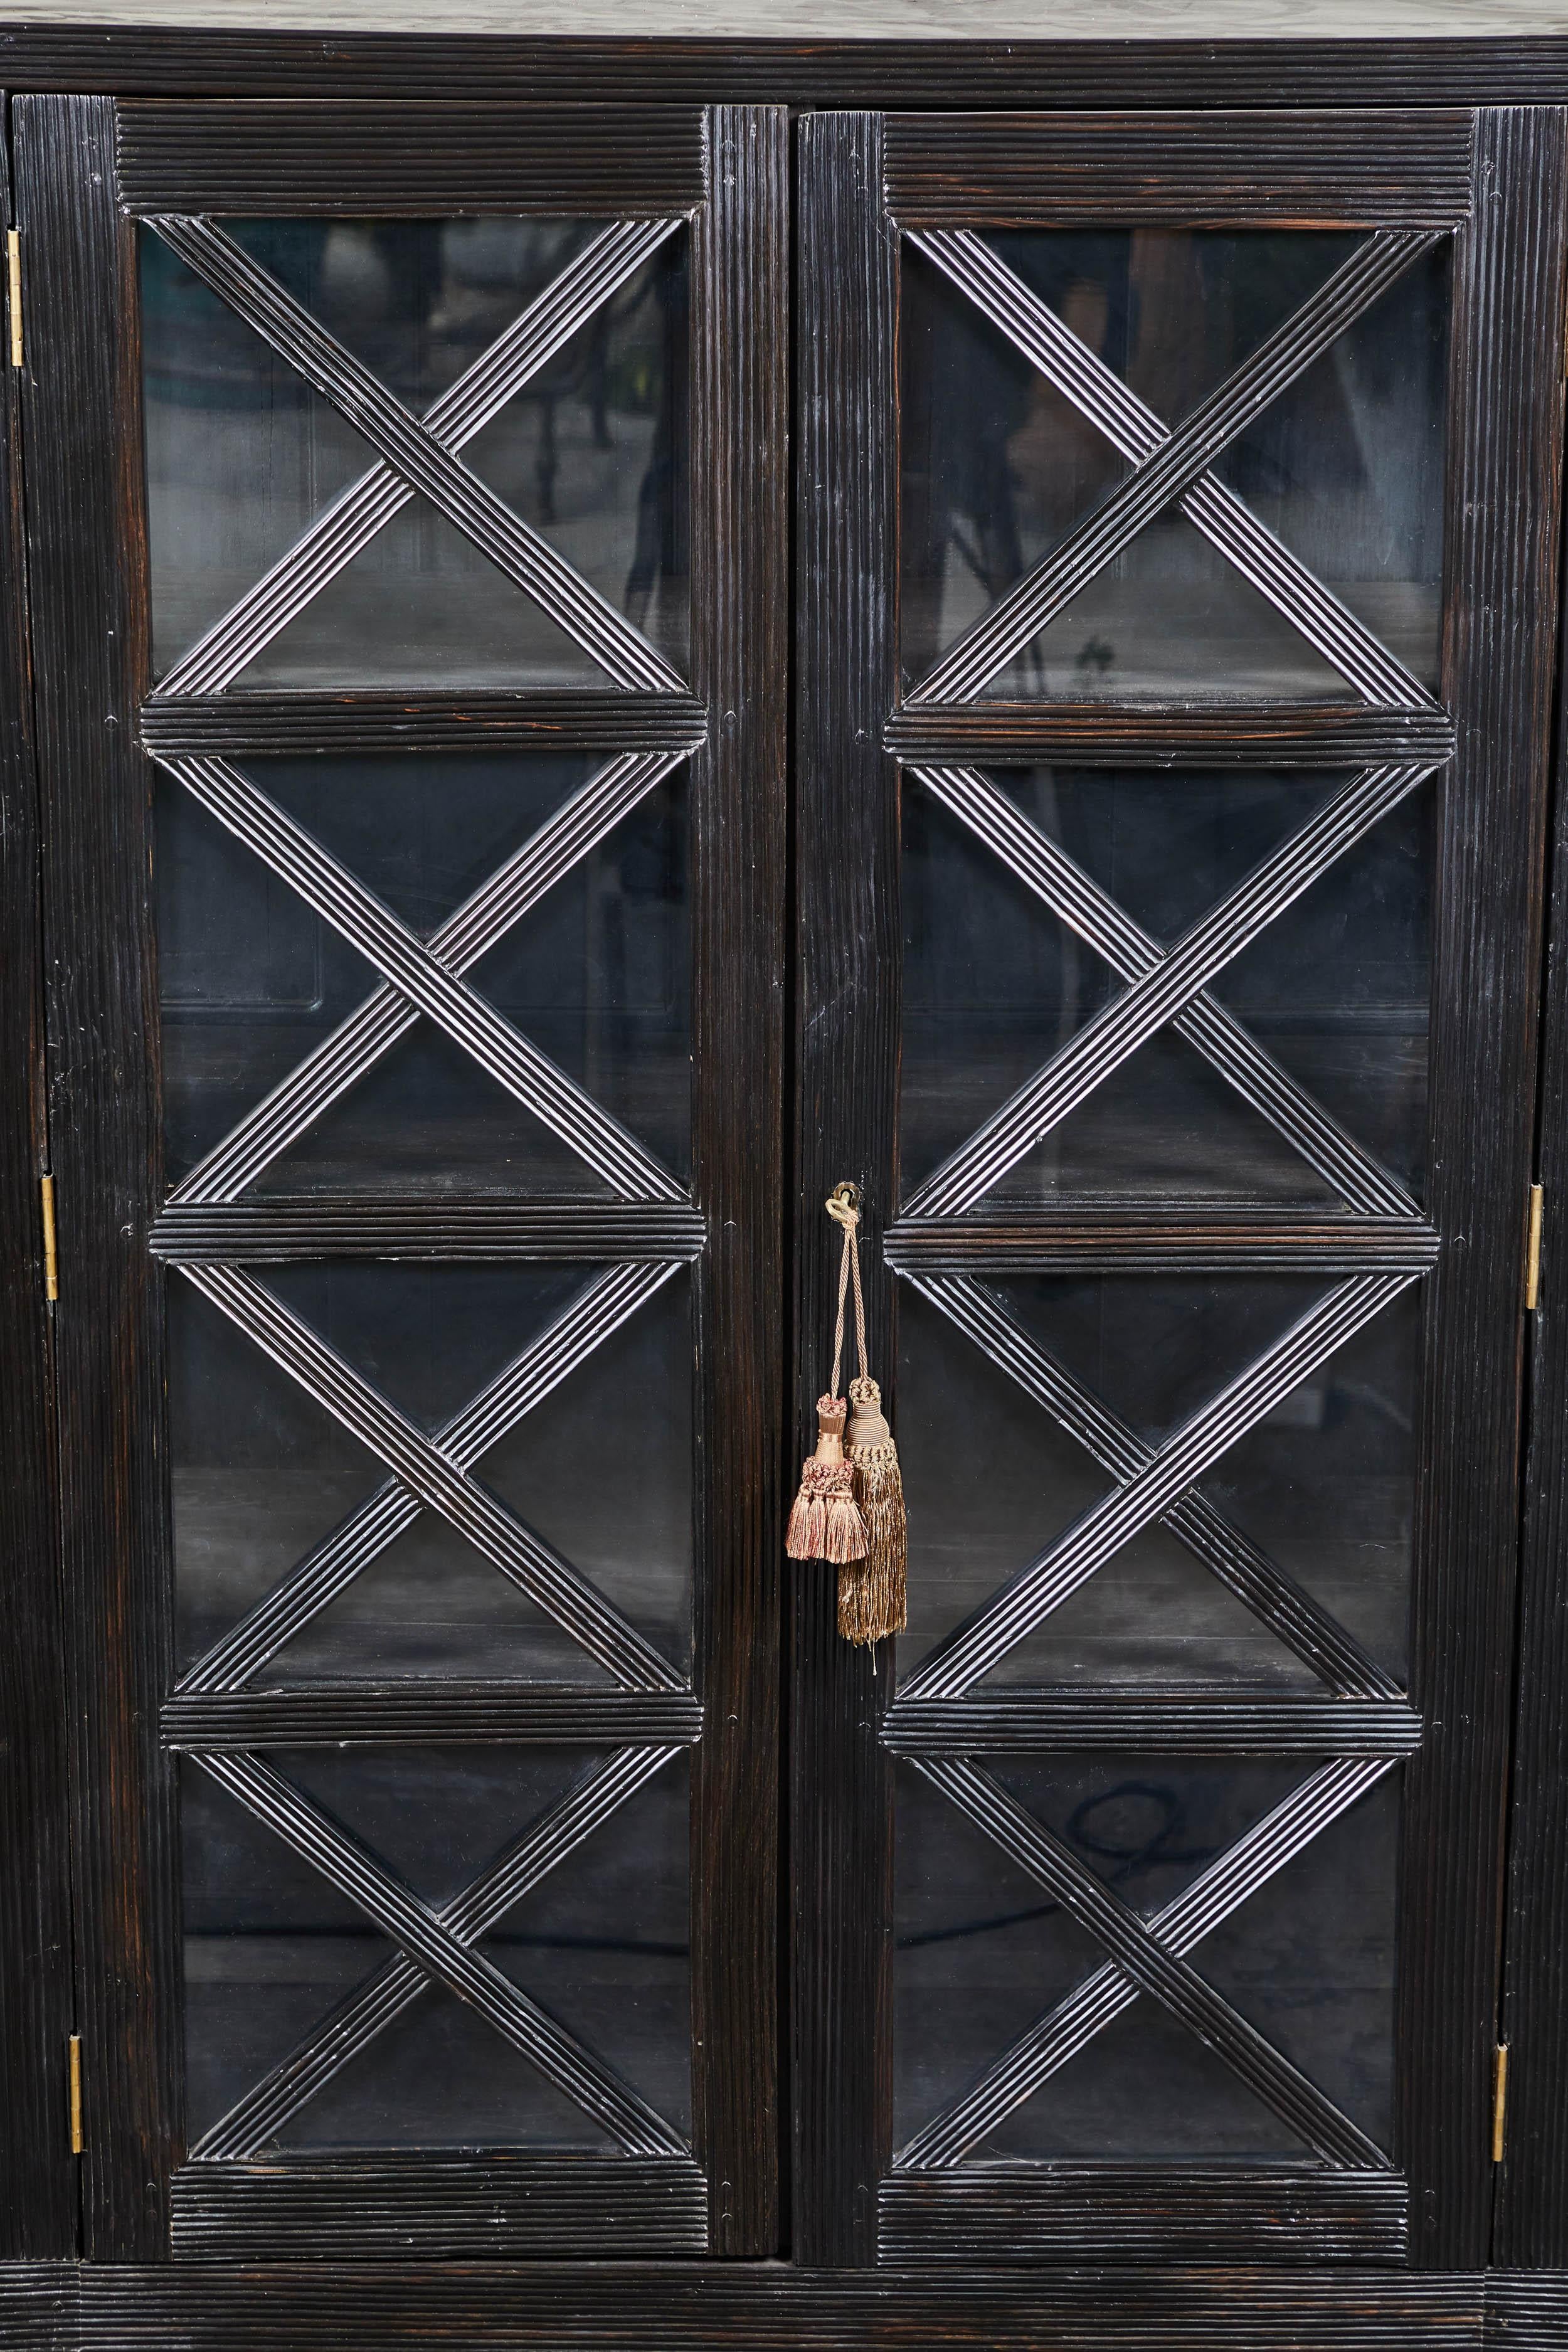
[[[19,129],[87,2251],[771,2253],[780,118]]]

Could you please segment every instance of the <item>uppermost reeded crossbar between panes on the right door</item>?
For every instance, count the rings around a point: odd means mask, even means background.
[[[1453,753],[1441,710],[1361,703],[922,703],[905,701],[882,741],[900,760],[997,767],[1378,767]]]

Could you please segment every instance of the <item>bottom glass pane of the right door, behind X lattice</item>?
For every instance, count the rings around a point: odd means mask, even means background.
[[[1319,1759],[987,1757],[1121,1903],[1154,1919]],[[1192,1962],[1387,2145],[1396,1776],[1251,1893]],[[896,2143],[947,2110],[1086,1976],[1100,1945],[912,1766],[898,1769]],[[1316,2161],[1241,2079],[1138,1994],[971,2150],[994,2157]]]

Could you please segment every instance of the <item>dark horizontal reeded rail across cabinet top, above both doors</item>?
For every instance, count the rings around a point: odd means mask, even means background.
[[[954,38],[933,42],[811,40],[738,33],[703,40],[649,31],[628,16],[618,38],[475,33],[465,0],[440,33],[263,31],[256,26],[148,26],[136,5],[101,0],[99,24],[31,21],[0,31],[0,78],[16,89],[143,92],[169,96],[303,96],[390,101],[480,101],[555,106],[1554,106],[1568,101],[1568,40],[1556,24],[1540,33],[1486,38],[1443,9],[1427,38],[1368,40],[1253,33],[1258,0],[1237,0],[1241,38],[1103,40]],[[1441,0],[1436,0],[1441,7]],[[212,12],[207,12],[212,19]],[[1251,21],[1248,21],[1251,19]],[[1037,28],[1032,28],[1037,31]],[[1159,38],[1159,35],[1166,38]],[[769,38],[773,35],[773,38]],[[1448,38],[1439,38],[1448,35]]]

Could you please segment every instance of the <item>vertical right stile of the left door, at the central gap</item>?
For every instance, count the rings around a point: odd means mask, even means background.
[[[715,108],[691,228],[691,757],[698,1672],[691,2006],[710,2244],[778,2249],[783,985],[790,155]]]

